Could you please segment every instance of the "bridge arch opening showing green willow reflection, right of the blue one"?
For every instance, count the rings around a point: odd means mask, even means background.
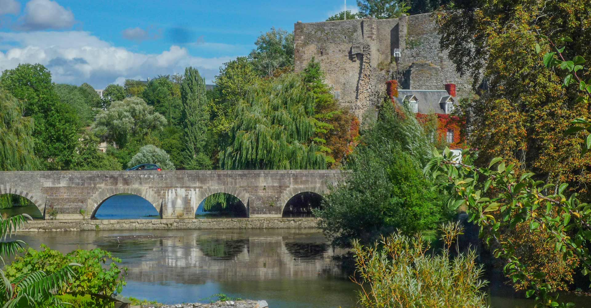
[[[211,194],[197,206],[195,218],[219,217],[248,217],[248,214],[242,201],[229,193]]]

